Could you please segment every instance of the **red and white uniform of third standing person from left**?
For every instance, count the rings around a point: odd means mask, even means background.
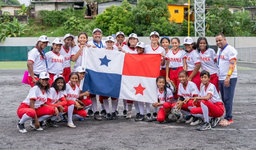
[[[63,76],[65,77],[65,82],[69,81],[69,74],[71,73],[71,47],[66,51],[64,46],[61,46],[59,53],[64,57],[64,69]]]

